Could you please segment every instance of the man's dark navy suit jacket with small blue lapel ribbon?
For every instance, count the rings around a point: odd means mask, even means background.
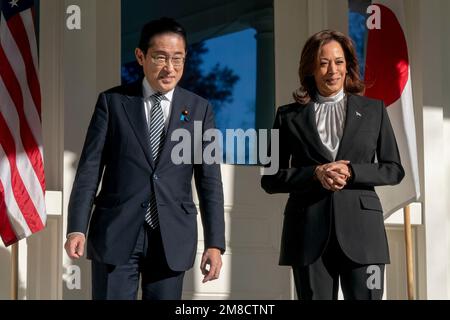
[[[188,121],[180,119],[184,110],[188,111]],[[175,165],[171,161],[172,148],[179,143],[171,141],[171,133],[184,128],[192,134],[194,121],[201,121],[203,131],[213,128],[211,105],[176,87],[164,147],[155,166],[142,81],[99,95],[73,184],[67,228],[67,233],[86,234],[89,225],[88,258],[113,265],[127,262],[144,224],[150,194],[154,191],[168,265],[175,271],[191,268],[197,249],[197,210],[191,188],[193,174],[205,247],[225,250],[220,166],[194,164],[193,146],[192,164]],[[102,175],[101,190],[96,196]],[[93,204],[95,209],[91,217]]]

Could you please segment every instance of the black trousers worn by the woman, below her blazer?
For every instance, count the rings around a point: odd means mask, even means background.
[[[339,282],[345,300],[381,300],[384,264],[363,265],[350,260],[336,238],[334,221],[330,240],[313,264],[292,267],[300,300],[337,300]]]

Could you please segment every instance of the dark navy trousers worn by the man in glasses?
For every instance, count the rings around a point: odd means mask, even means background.
[[[142,226],[134,252],[124,265],[92,261],[94,300],[135,300],[141,278],[142,300],[180,300],[184,272],[167,265],[159,228]]]

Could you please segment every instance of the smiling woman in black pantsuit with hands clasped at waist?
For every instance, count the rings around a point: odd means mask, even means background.
[[[382,101],[363,97],[352,41],[324,30],[303,48],[296,102],[278,108],[280,168],[268,193],[289,193],[280,265],[300,299],[381,299],[389,249],[375,186],[404,171]],[[272,142],[275,143],[275,142]]]

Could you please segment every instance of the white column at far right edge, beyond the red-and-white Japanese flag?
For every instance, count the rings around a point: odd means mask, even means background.
[[[420,2],[420,44],[422,66],[423,146],[424,146],[424,232],[426,298],[449,297],[449,211],[447,82],[448,35],[445,1]],[[447,38],[447,39],[446,39]],[[448,130],[448,129],[447,129]],[[446,206],[447,205],[447,206]]]

